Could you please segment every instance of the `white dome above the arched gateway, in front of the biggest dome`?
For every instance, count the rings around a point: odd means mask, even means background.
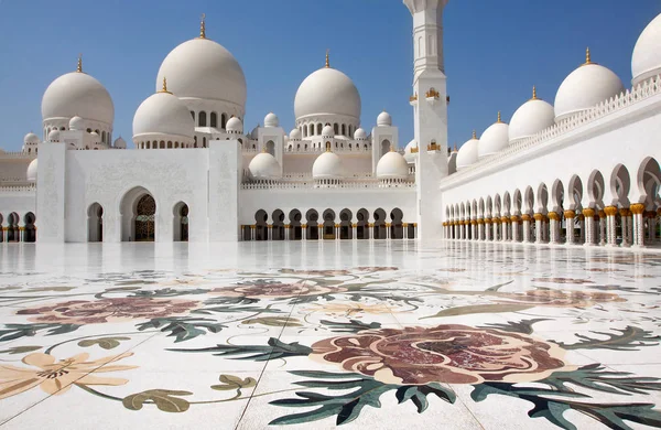
[[[150,96],[133,117],[133,141],[147,135],[191,140],[194,133],[195,122],[188,108],[171,93],[159,92]]]

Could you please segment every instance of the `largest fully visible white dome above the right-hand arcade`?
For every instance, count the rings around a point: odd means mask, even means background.
[[[620,78],[610,69],[588,60],[567,76],[555,95],[555,121],[587,110],[625,90]]]

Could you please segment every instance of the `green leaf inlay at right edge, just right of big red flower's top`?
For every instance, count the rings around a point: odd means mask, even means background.
[[[607,338],[594,338],[585,334],[576,334],[581,341],[574,344],[564,342],[555,342],[565,350],[611,350],[611,351],[639,351],[640,346],[659,345],[661,336],[654,335],[652,332],[635,326],[627,326],[625,330],[615,329],[620,334],[592,332],[600,334]]]

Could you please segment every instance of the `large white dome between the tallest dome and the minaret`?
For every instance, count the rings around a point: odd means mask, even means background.
[[[307,76],[294,100],[296,119],[340,115],[360,119],[360,95],[354,82],[335,68],[324,67]]]

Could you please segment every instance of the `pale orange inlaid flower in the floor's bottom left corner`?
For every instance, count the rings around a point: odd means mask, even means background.
[[[136,368],[137,366],[111,364],[131,355],[133,353],[124,353],[93,362],[87,361],[89,354],[78,354],[58,362],[48,354],[26,355],[23,363],[32,367],[0,365],[0,399],[28,391],[36,386],[50,395],[62,395],[68,391],[72,385],[124,385],[128,383],[127,379],[104,378],[96,374]]]

